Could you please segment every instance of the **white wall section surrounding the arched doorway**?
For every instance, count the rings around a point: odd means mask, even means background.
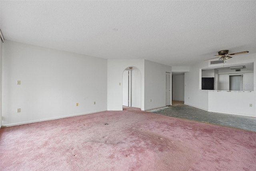
[[[108,60],[108,110],[122,110],[122,76],[128,67],[141,72],[141,109],[144,110],[144,60]],[[121,83],[121,85],[119,85]]]

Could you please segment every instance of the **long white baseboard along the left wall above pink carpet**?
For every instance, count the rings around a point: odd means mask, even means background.
[[[92,112],[86,112],[86,113],[77,113],[77,114],[73,114],[73,115],[65,115],[65,116],[58,116],[58,117],[50,117],[50,118],[38,119],[38,120],[26,121],[26,122],[11,123],[11,124],[2,125],[2,127],[11,127],[11,126],[17,126],[17,125],[24,125],[24,124],[28,124],[28,123],[50,121],[50,120],[61,119],[61,118],[65,118],[65,117],[72,117],[72,116],[87,115],[87,114],[91,114],[91,113],[98,113],[98,112],[102,112],[102,111],[106,111],[106,110],[92,111]]]

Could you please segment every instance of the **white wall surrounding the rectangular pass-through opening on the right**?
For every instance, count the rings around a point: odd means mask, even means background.
[[[243,58],[232,58],[227,60],[225,66],[233,64],[243,64],[254,62],[254,71],[256,70],[256,54],[246,54]],[[224,67],[225,67],[224,66]],[[234,115],[244,115],[256,117],[256,91],[215,91],[215,90],[199,90],[198,85],[201,84],[200,69],[208,67],[208,62],[202,62],[190,67],[190,72],[185,73],[185,104],[204,109],[206,111],[214,111],[220,113],[228,113]],[[226,78],[219,77],[219,81],[228,81]],[[250,77],[250,76],[249,76]],[[248,79],[247,79],[248,80]],[[253,86],[255,87],[256,74],[253,78]],[[248,82],[251,84],[252,80]],[[219,84],[219,88],[221,85]],[[188,99],[190,97],[190,99]],[[249,107],[252,104],[252,107]]]

